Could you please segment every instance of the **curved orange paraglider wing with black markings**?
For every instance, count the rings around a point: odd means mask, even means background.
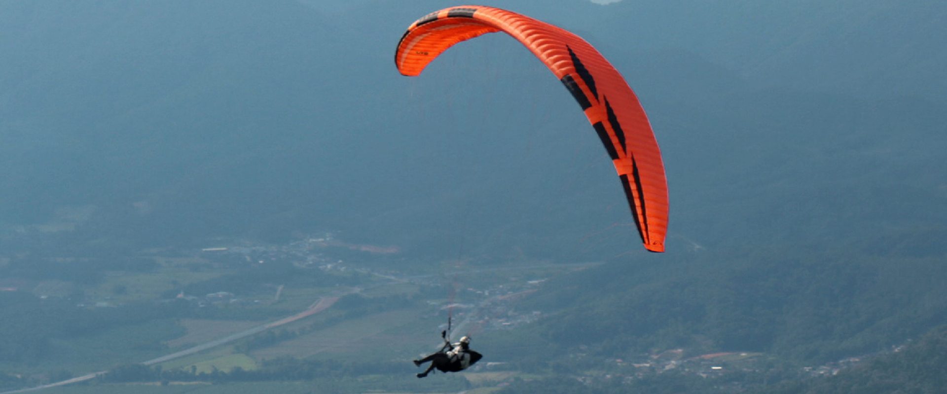
[[[402,75],[416,77],[455,43],[498,31],[526,45],[579,102],[615,164],[642,243],[664,251],[668,182],[648,117],[615,67],[581,37],[505,9],[452,7],[408,26],[395,64]]]

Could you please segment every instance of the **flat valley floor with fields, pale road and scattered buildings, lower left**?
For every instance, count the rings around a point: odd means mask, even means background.
[[[366,392],[378,392],[380,387],[392,393],[438,392],[438,385],[447,382],[490,393],[491,387],[516,374],[480,370],[442,375],[432,381],[440,383],[419,385],[414,377],[418,370],[410,360],[439,348],[439,332],[446,328],[448,315],[453,314],[458,332],[480,335],[500,327],[499,322],[514,321],[505,305],[517,300],[518,294],[535,291],[535,283],[544,278],[581,269],[451,264],[435,274],[411,268],[377,274],[365,266],[298,266],[293,260],[280,260],[277,251],[255,251],[277,256],[267,258],[266,264],[221,254],[209,260],[152,257],[142,258],[154,262],[149,270],[106,270],[94,285],[59,279],[39,283],[36,288],[50,300],[63,300],[63,308],[69,308],[65,298],[81,294],[82,300],[72,301],[69,313],[89,315],[86,319],[98,316],[92,320],[98,322],[85,324],[104,328],[71,337],[52,335],[48,344],[57,355],[54,360],[14,372],[27,373],[35,382],[28,385],[42,385],[98,371],[125,373],[153,360],[142,368],[160,368],[181,381],[154,378],[149,383],[149,379],[125,380],[131,375],[120,380],[107,375],[46,388],[41,394],[257,392],[254,389],[260,387],[308,393],[334,392],[319,391],[333,386],[363,387]],[[274,276],[277,272],[279,276]],[[277,278],[285,282],[276,282]],[[486,345],[487,336],[479,338]],[[283,364],[267,364],[275,360]],[[277,378],[291,370],[286,360],[318,372]],[[360,372],[360,368],[367,369]],[[257,373],[248,376],[258,380],[237,385],[236,375],[226,375],[235,371]],[[289,383],[269,382],[274,379]],[[162,380],[166,385],[159,385]],[[294,383],[309,380],[318,381],[319,388]]]

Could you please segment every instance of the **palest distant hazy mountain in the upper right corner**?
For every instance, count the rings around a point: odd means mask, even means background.
[[[623,1],[599,9],[616,43],[675,46],[754,85],[943,100],[937,2]],[[605,38],[606,36],[602,36]]]

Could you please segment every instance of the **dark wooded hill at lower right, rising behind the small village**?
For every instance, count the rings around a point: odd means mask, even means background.
[[[947,298],[938,290],[947,266],[940,259],[742,251],[705,252],[661,267],[616,265],[610,278],[589,271],[549,283],[557,291],[532,306],[561,312],[537,330],[560,346],[597,344],[617,357],[684,347],[825,363],[887,349],[947,323]],[[711,265],[721,260],[727,266]],[[592,281],[599,286],[581,284]]]

